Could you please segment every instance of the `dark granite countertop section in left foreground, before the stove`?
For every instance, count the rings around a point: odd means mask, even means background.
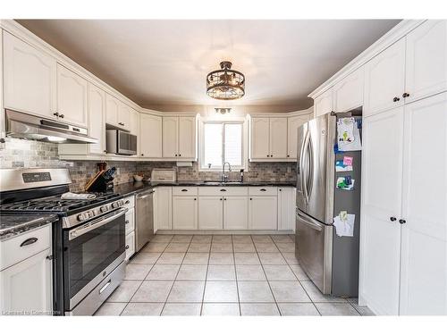
[[[57,215],[3,214],[0,215],[0,241],[10,239],[58,220]]]

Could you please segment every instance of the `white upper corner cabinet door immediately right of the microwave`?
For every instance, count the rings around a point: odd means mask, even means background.
[[[141,156],[159,158],[162,156],[162,117],[140,114],[139,148]]]

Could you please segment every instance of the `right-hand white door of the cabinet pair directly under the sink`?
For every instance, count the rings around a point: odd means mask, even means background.
[[[249,229],[249,198],[224,197],[223,200],[223,229]]]

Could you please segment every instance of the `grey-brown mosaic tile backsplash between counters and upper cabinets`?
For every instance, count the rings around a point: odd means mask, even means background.
[[[81,191],[97,172],[98,161],[61,161],[57,145],[45,142],[6,138],[5,148],[0,151],[0,168],[67,167],[72,177],[72,191]],[[249,163],[245,180],[291,181],[296,179],[295,163]],[[133,180],[141,173],[146,179],[154,168],[176,168],[177,180],[219,180],[222,172],[199,172],[198,163],[177,167],[174,162],[107,162],[118,169],[115,184]],[[229,172],[230,180],[239,180],[240,172]]]

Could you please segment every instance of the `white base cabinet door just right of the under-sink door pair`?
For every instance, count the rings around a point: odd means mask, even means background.
[[[249,197],[249,229],[276,230],[278,197]]]

